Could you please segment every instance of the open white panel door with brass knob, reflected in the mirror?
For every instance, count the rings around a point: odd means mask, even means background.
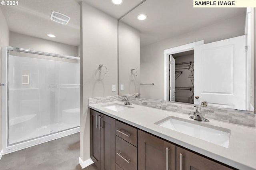
[[[245,46],[239,36],[194,48],[194,104],[246,110]]]

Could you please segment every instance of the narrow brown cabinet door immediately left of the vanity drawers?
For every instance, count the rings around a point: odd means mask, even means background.
[[[101,170],[114,170],[116,166],[116,121],[106,115],[100,115]]]

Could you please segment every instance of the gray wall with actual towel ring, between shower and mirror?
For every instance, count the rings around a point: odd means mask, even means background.
[[[118,95],[117,20],[104,12],[80,4],[80,45],[81,45],[81,159],[90,159],[90,110],[88,98]],[[108,73],[99,73],[103,64]],[[116,91],[112,91],[112,85]]]

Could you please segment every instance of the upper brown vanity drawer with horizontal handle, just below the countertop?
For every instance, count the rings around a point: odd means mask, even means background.
[[[137,146],[137,129],[116,121],[116,135],[130,144]]]

